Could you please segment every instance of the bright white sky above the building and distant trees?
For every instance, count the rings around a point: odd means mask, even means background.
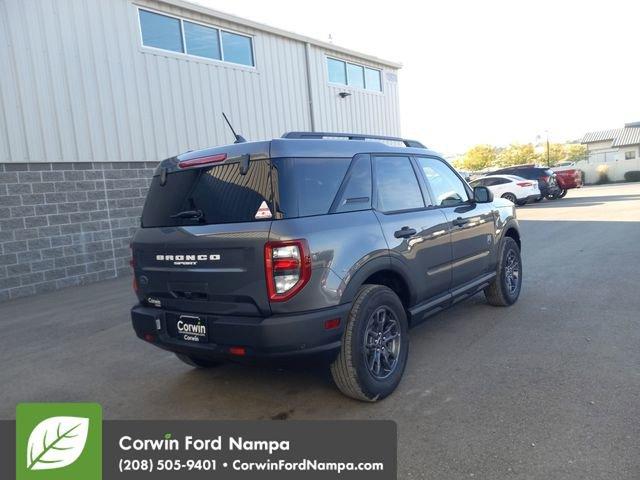
[[[640,121],[637,0],[192,0],[403,64],[402,134],[449,155]]]

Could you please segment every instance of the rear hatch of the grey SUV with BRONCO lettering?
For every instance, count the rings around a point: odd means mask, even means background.
[[[245,175],[248,156],[186,154],[160,164],[132,242],[142,302],[181,312],[270,312],[263,252],[274,206],[265,157],[252,159]]]

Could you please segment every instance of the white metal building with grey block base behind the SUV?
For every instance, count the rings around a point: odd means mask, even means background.
[[[157,161],[400,135],[400,65],[182,0],[0,0],[0,301],[128,273]]]

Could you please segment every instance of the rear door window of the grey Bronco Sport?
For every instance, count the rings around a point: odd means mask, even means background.
[[[409,157],[374,157],[377,209],[396,212],[424,208]]]

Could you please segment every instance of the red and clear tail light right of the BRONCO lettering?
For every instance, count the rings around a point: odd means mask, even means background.
[[[311,254],[307,241],[267,242],[264,246],[264,267],[269,300],[289,300],[311,278]]]

